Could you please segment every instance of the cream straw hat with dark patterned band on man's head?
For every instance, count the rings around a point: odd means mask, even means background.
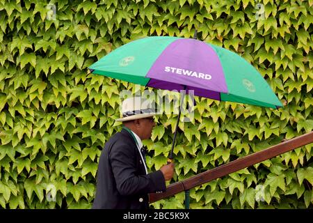
[[[131,121],[157,115],[148,100],[141,97],[127,98],[122,102],[122,118],[115,121]]]

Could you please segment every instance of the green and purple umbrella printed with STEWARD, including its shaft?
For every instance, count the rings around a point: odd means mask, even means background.
[[[122,45],[90,72],[142,86],[193,90],[194,95],[278,109],[282,103],[262,75],[234,52],[196,40],[152,36]],[[175,146],[179,116],[169,161]]]

